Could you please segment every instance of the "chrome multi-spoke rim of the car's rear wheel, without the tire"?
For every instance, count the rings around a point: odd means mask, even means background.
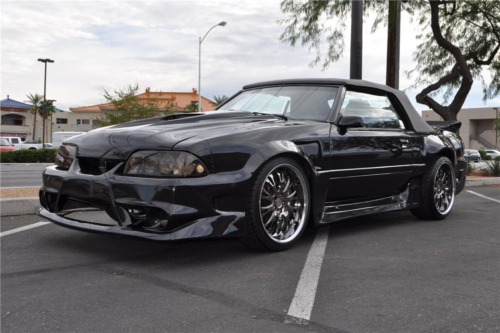
[[[455,181],[447,163],[442,163],[434,176],[434,205],[441,215],[447,214],[455,200]]]

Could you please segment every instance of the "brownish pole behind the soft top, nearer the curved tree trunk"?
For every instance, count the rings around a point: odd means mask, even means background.
[[[401,25],[401,1],[388,1],[387,65],[385,84],[399,89],[399,38]]]

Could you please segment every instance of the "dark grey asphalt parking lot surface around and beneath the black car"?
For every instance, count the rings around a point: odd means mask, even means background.
[[[465,188],[444,221],[409,212],[308,229],[292,249],[169,244],[4,217],[2,332],[497,332],[500,187]],[[310,319],[289,321],[316,232]],[[315,242],[314,242],[315,243]]]

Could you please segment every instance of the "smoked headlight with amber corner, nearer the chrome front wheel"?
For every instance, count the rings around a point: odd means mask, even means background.
[[[125,175],[192,177],[208,174],[205,165],[184,152],[139,151],[126,162]]]

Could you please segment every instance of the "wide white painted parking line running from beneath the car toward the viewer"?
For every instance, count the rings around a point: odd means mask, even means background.
[[[330,227],[328,226],[316,231],[316,236],[307,254],[302,274],[300,274],[300,279],[298,280],[295,296],[293,296],[288,309],[285,323],[305,325],[309,323],[329,230]]]

